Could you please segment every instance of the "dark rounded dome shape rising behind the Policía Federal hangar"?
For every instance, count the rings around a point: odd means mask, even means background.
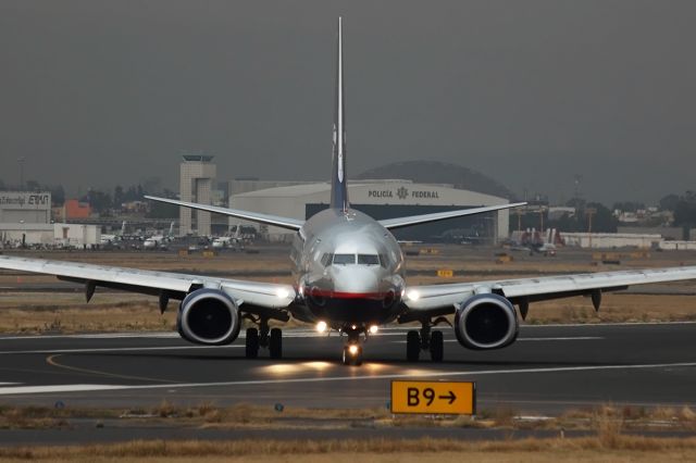
[[[515,195],[493,178],[462,167],[461,165],[436,161],[406,161],[365,171],[355,177],[357,180],[406,179],[419,184],[451,184],[455,188],[514,199]]]

